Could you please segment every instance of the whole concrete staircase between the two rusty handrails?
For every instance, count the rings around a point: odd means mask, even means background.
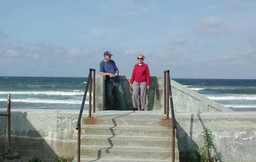
[[[81,162],[171,162],[171,120],[119,112],[83,119]],[[175,162],[179,162],[176,138]]]

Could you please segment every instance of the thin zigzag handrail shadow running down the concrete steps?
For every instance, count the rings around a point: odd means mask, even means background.
[[[113,139],[113,138],[116,136],[116,134],[115,134],[115,132],[114,132],[114,130],[113,130],[113,128],[115,128],[115,127],[117,126],[115,119],[121,118],[122,116],[126,116],[126,115],[129,115],[129,114],[131,114],[131,113],[133,113],[133,112],[118,114],[118,115],[120,115],[120,116],[111,119],[112,122],[113,122],[113,124],[114,124],[114,126],[109,128],[110,131],[111,131],[111,133],[112,133],[112,136],[108,138],[108,141],[109,141],[110,146],[109,146],[109,147],[105,147],[105,148],[99,149],[99,150],[98,150],[97,159],[92,160],[92,161],[89,161],[89,162],[93,162],[93,161],[100,160],[100,159],[101,159],[101,151],[102,151],[102,150],[105,150],[106,153],[109,153],[109,152],[110,152],[109,150],[114,147],[114,144],[113,144],[113,142],[112,142],[111,139]],[[112,116],[112,115],[106,115],[106,116]],[[102,116],[98,116],[98,117],[102,117]]]

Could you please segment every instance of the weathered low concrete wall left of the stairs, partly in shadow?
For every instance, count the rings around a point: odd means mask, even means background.
[[[12,109],[11,151],[30,158],[73,156],[78,114],[77,110]]]

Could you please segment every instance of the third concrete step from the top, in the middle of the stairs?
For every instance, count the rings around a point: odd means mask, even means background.
[[[171,147],[170,137],[81,135],[81,145]],[[177,140],[175,141],[177,147]]]

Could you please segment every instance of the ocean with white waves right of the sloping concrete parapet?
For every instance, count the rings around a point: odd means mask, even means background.
[[[256,111],[256,79],[173,79],[233,110]]]

